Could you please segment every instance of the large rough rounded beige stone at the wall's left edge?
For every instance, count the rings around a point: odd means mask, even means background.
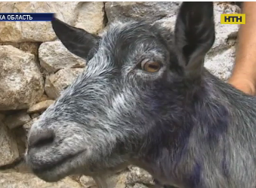
[[[44,92],[35,56],[10,45],[0,52],[0,111],[29,108]]]

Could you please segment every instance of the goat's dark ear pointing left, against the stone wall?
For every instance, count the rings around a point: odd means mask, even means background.
[[[100,37],[86,32],[84,29],[69,26],[56,17],[51,21],[51,26],[54,29],[57,38],[71,53],[76,56],[86,59],[88,53],[94,48]]]

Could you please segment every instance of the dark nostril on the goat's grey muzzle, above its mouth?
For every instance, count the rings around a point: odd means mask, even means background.
[[[54,132],[43,130],[36,135],[31,135],[29,138],[30,147],[42,147],[54,142]]]

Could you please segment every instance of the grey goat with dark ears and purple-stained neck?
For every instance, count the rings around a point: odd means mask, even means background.
[[[25,159],[38,177],[85,174],[113,188],[107,174],[137,165],[159,187],[256,186],[256,99],[203,66],[212,2],[183,2],[174,33],[146,21],[102,37],[52,26],[87,68],[32,125]]]

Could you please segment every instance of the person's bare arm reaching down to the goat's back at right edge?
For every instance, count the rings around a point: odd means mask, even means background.
[[[233,74],[228,82],[249,95],[256,95],[256,2],[243,2],[246,24],[239,29]]]

